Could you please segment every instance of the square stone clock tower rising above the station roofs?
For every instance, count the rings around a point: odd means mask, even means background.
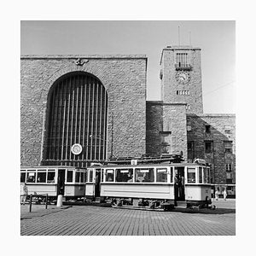
[[[160,58],[161,101],[186,104],[186,113],[203,113],[201,49],[167,46]]]

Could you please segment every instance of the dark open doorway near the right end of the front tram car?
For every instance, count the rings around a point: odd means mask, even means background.
[[[175,201],[185,201],[184,167],[175,167],[174,173],[174,199]]]

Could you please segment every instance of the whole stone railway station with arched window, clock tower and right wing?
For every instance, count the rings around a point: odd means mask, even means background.
[[[162,50],[157,102],[146,55],[23,55],[20,72],[21,166],[183,154],[235,193],[236,116],[203,112],[200,48]]]

